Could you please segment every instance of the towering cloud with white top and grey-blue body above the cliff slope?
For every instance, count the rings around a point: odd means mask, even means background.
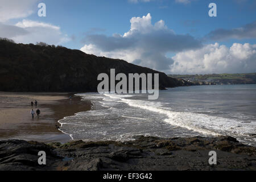
[[[163,20],[151,23],[151,15],[133,17],[131,28],[123,35],[88,35],[81,51],[97,56],[124,59],[144,67],[167,71],[173,63],[166,54],[201,47],[190,35],[178,35]]]

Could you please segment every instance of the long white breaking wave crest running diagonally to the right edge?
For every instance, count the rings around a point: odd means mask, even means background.
[[[150,110],[156,113],[165,114],[168,118],[164,119],[165,122],[174,126],[183,127],[188,130],[197,131],[205,135],[231,135],[233,137],[247,137],[249,133],[255,133],[255,123],[243,123],[234,119],[213,117],[207,114],[199,114],[183,111],[172,111],[164,109],[159,102],[129,100],[115,95],[106,96],[125,102],[129,106],[139,107],[141,109]],[[237,127],[240,125],[240,127]],[[232,127],[236,126],[236,127]]]

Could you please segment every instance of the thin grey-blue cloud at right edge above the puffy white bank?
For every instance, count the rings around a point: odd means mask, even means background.
[[[225,30],[223,28],[214,30],[207,35],[207,38],[212,40],[226,40],[226,39],[255,39],[256,38],[256,21],[246,24],[243,27]]]

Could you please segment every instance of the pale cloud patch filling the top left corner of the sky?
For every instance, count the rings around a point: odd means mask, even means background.
[[[15,18],[26,18],[34,13],[38,0],[0,0],[0,22],[6,22]]]

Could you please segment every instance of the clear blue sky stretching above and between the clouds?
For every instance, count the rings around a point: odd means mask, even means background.
[[[40,1],[41,2],[41,1]],[[207,35],[217,28],[236,28],[256,20],[256,2],[235,0],[203,0],[191,3],[177,3],[175,0],[162,0],[133,3],[126,0],[96,0],[96,1],[42,1],[47,6],[47,16],[39,17],[36,12],[29,18],[43,21],[61,27],[69,36],[76,36],[76,42],[67,42],[63,46],[80,49],[80,40],[86,32],[94,30],[97,33],[111,36],[123,34],[130,28],[130,19],[148,13],[152,23],[162,19],[168,28],[179,34],[191,34],[196,38]],[[217,17],[208,16],[208,5],[217,5]],[[246,2],[246,3],[245,3]],[[254,6],[250,6],[254,5]],[[35,6],[35,10],[38,7]],[[240,43],[255,43],[254,40],[240,40]],[[221,42],[232,44],[232,41]]]

